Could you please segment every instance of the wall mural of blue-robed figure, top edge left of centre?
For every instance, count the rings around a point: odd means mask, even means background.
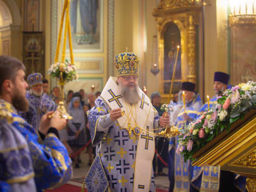
[[[73,0],[70,2],[74,52],[102,52],[103,5],[103,0]]]

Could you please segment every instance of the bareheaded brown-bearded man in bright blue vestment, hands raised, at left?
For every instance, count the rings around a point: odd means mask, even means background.
[[[35,172],[35,185],[37,191],[41,191],[68,182],[73,169],[68,152],[59,140],[58,130],[62,130],[66,125],[66,120],[59,118],[59,112],[55,112],[51,119],[48,117],[53,112],[43,115],[37,131],[18,115],[16,110],[26,112],[29,108],[26,99],[28,85],[24,80],[24,71],[25,67],[20,60],[0,56],[0,106],[1,111],[13,116],[10,124],[26,139]],[[24,159],[23,163],[29,162]]]

